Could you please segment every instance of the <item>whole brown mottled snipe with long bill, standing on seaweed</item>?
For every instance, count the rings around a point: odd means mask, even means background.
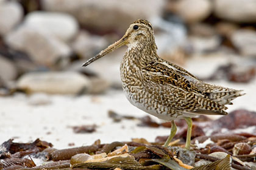
[[[87,66],[118,47],[128,49],[120,72],[124,93],[134,106],[160,119],[171,121],[168,146],[176,134],[174,120],[184,118],[188,124],[185,148],[190,149],[192,117],[226,115],[226,104],[239,97],[241,90],[215,86],[200,81],[187,70],[159,58],[151,23],[138,19],[126,34],[83,64]]]

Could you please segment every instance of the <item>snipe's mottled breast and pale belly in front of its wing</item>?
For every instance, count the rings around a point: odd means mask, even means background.
[[[154,87],[150,89],[150,87],[144,86],[143,75],[136,64],[131,64],[129,61],[122,61],[120,72],[124,94],[133,106],[163,120],[172,119],[168,115],[169,109],[163,107],[156,100],[155,94],[151,93]]]

